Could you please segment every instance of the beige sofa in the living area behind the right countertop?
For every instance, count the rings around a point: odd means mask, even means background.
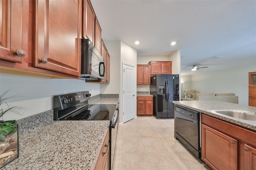
[[[185,97],[183,101],[218,100],[238,104],[238,96],[234,93],[194,93],[192,98]]]

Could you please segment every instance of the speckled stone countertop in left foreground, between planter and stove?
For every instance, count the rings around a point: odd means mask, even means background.
[[[19,157],[3,170],[93,170],[110,121],[53,121],[19,137]]]

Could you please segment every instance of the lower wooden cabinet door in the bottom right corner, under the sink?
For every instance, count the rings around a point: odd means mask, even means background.
[[[256,148],[244,144],[244,169],[256,170]]]

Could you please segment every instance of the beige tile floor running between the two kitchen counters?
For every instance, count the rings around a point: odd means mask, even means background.
[[[114,170],[210,170],[174,139],[174,119],[137,117],[118,127]]]

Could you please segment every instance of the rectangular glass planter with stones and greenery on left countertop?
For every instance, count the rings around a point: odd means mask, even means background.
[[[18,158],[18,124],[0,121],[0,168]]]

